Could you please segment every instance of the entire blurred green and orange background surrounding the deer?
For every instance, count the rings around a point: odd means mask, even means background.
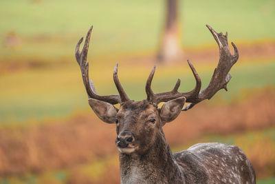
[[[74,48],[94,25],[88,54],[98,94],[131,99],[195,79],[208,85],[219,48],[206,23],[239,49],[228,92],[219,91],[164,127],[173,152],[202,142],[238,145],[258,183],[275,183],[275,1],[2,0],[0,183],[119,183],[115,125],[89,108]],[[232,46],[230,45],[230,49]]]

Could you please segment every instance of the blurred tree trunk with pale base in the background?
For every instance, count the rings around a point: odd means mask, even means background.
[[[157,61],[166,63],[175,60],[181,52],[179,32],[179,0],[166,1],[166,20],[160,47],[157,53]]]

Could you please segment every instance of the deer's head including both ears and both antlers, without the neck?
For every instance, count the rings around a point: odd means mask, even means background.
[[[113,81],[118,89],[119,94],[100,96],[96,93],[94,83],[89,79],[89,63],[87,62],[87,52],[89,48],[89,39],[91,37],[92,26],[87,33],[85,45],[80,52],[80,43],[76,45],[76,60],[80,65],[83,76],[83,83],[89,96],[89,105],[96,115],[106,123],[115,123],[116,132],[118,134],[115,144],[122,154],[131,154],[136,152],[144,154],[152,147],[157,139],[163,139],[162,126],[165,123],[173,121],[179,113],[189,110],[195,104],[204,99],[211,99],[214,94],[224,88],[230,81],[231,76],[228,73],[232,65],[236,63],[239,54],[234,43],[234,54],[230,54],[227,33],[215,32],[209,25],[206,25],[212,33],[214,39],[219,45],[219,63],[214,70],[214,74],[209,85],[201,90],[201,79],[197,74],[193,65],[188,61],[188,65],[195,76],[196,85],[190,92],[178,92],[180,80],[177,80],[175,87],[170,92],[162,92],[154,94],[151,90],[151,82],[155,73],[155,66],[148,76],[146,82],[147,98],[143,101],[131,101],[124,92],[120,81],[118,80],[118,64],[115,65],[113,72]],[[161,108],[157,105],[164,102]],[[190,104],[184,107],[184,103]],[[115,108],[115,104],[120,103],[120,108]]]

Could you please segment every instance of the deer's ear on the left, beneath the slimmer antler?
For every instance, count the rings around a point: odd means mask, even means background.
[[[115,123],[115,116],[118,113],[118,109],[111,105],[111,103],[89,99],[89,105],[102,121]]]

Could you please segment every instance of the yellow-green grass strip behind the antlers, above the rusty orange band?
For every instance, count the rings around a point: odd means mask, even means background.
[[[195,63],[194,63],[195,64]],[[211,77],[214,64],[204,67],[196,65],[201,75],[203,86]],[[131,99],[145,99],[144,84],[151,66],[141,68],[123,64],[120,66],[120,79]],[[106,69],[106,68],[105,68]],[[96,65],[91,70],[99,94],[117,94],[112,81],[113,68]],[[144,70],[146,70],[144,72]],[[275,63],[239,63],[232,69],[232,81],[228,85],[229,92],[221,91],[214,99],[237,98],[241,89],[262,88],[274,83]],[[145,73],[145,74],[144,74]],[[181,79],[182,91],[188,91],[195,85],[190,69],[186,65],[177,68],[159,67],[153,81],[155,92],[163,92],[173,88],[177,78]],[[54,82],[53,82],[54,81]],[[54,70],[28,70],[7,74],[0,77],[0,122],[24,122],[44,119],[45,117],[67,116],[77,110],[86,110],[87,95],[81,82],[78,65],[74,68]]]

